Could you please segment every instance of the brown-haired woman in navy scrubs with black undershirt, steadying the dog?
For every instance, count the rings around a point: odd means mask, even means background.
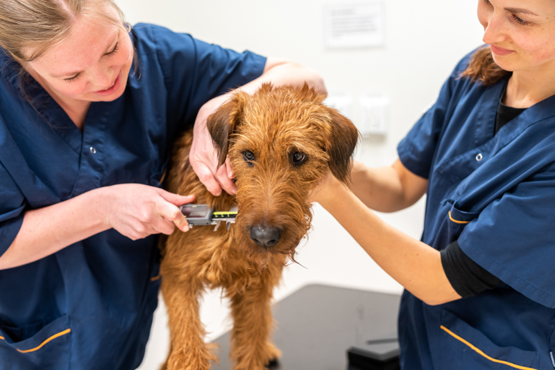
[[[392,166],[314,200],[404,288],[403,370],[555,367],[555,1],[479,0],[456,66]],[[370,209],[426,198],[415,240]]]

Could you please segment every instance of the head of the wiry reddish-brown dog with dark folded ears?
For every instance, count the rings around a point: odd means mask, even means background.
[[[348,118],[304,87],[264,84],[253,96],[236,92],[208,118],[219,156],[230,156],[237,184],[237,228],[243,245],[264,264],[289,255],[311,222],[309,192],[327,169],[350,183],[359,133]]]

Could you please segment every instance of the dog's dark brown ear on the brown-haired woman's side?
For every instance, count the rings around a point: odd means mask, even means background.
[[[352,154],[359,141],[359,130],[336,109],[328,108],[331,116],[331,134],[326,140],[326,151],[330,155],[332,175],[345,185],[351,183]]]

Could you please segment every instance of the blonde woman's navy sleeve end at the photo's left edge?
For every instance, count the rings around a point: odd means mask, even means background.
[[[0,256],[19,233],[25,206],[24,196],[0,162]]]

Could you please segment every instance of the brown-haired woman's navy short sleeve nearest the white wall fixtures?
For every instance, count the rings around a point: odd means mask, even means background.
[[[436,102],[422,114],[407,136],[398,145],[399,159],[411,173],[429,178],[432,159],[441,140],[441,133],[449,121],[449,114],[456,105],[456,87],[462,85],[460,74],[470,60],[472,53],[466,55],[445,81]]]

